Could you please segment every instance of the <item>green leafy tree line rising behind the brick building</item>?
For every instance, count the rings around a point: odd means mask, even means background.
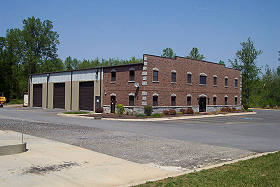
[[[142,62],[135,57],[128,60],[78,60],[70,56],[63,61],[57,54],[59,43],[59,34],[50,20],[29,17],[23,20],[21,29],[8,29],[6,36],[0,37],[0,94],[8,100],[22,98],[30,74]],[[256,65],[261,54],[262,51],[255,49],[253,41],[248,38],[241,43],[236,58],[229,60],[231,68],[242,71],[242,104],[245,108],[280,106],[280,67],[271,69],[266,66],[262,74]],[[165,48],[161,56],[175,58],[176,53]],[[197,47],[193,47],[186,57],[205,60]],[[222,60],[218,63],[225,65]]]

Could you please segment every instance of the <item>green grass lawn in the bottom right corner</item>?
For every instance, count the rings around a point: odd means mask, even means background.
[[[280,152],[138,187],[155,186],[280,186]]]

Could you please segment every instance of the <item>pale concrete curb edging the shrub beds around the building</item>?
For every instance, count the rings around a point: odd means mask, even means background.
[[[198,116],[179,116],[179,117],[169,117],[169,118],[146,118],[146,119],[116,119],[116,118],[102,118],[101,120],[112,120],[112,121],[170,121],[170,120],[180,120],[180,119],[199,119],[199,118],[211,118],[211,117],[221,117],[221,116],[240,116],[256,114],[256,112],[245,112],[245,113],[228,113],[228,114],[217,114],[217,115],[198,115]],[[79,117],[86,119],[94,119],[93,117],[81,116],[81,114],[63,114],[58,113],[59,116],[66,117]]]

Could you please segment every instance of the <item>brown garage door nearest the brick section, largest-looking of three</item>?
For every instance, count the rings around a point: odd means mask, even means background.
[[[79,107],[80,110],[93,110],[94,98],[94,84],[93,81],[80,82],[79,88]]]

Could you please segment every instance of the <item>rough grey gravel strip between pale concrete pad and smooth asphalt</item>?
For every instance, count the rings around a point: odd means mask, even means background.
[[[255,154],[235,148],[76,125],[0,119],[0,130],[23,131],[25,134],[68,143],[137,163],[185,169],[195,169]]]

